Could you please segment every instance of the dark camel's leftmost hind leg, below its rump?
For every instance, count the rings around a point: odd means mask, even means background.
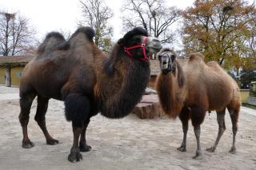
[[[36,96],[33,92],[20,92],[20,107],[21,112],[18,116],[18,119],[22,125],[22,133],[23,133],[23,139],[22,139],[22,147],[23,148],[32,148],[34,146],[34,143],[30,141],[30,138],[27,133],[27,125],[29,123],[30,119],[30,109],[32,102],[34,100],[34,97]]]

